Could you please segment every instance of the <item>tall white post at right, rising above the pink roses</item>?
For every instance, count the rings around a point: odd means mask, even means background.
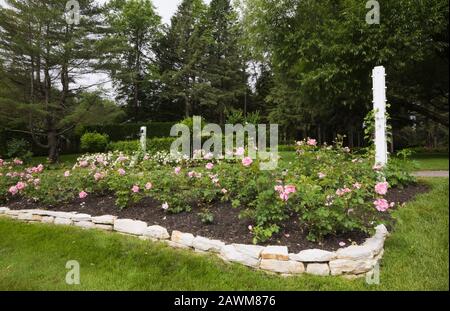
[[[373,78],[373,108],[375,111],[375,164],[385,166],[387,157],[386,138],[386,72],[383,66],[375,67]]]

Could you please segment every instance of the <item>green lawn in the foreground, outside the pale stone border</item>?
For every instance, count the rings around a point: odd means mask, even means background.
[[[0,290],[448,290],[448,179],[426,182],[430,193],[395,212],[378,286],[271,276],[115,233],[0,217]],[[68,260],[80,263],[80,285],[65,284]]]

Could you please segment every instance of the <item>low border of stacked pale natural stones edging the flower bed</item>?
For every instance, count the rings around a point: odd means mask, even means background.
[[[217,254],[227,262],[282,275],[307,273],[312,275],[365,276],[371,273],[384,253],[384,241],[389,235],[384,225],[375,228],[375,235],[362,245],[351,245],[335,252],[320,249],[303,250],[297,254],[289,253],[286,246],[258,246],[246,244],[225,244],[191,233],[173,231],[166,228],[148,226],[140,220],[119,219],[116,216],[91,216],[76,212],[55,212],[46,210],[10,210],[0,207],[0,216],[27,222],[74,225],[83,229],[117,231],[141,239],[164,241],[177,248],[193,249],[197,252]]]

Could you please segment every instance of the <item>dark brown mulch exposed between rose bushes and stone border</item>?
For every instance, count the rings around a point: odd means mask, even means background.
[[[389,201],[405,203],[414,198],[416,194],[428,191],[425,185],[411,185],[404,189],[392,189],[387,196]],[[8,205],[11,209],[36,209],[42,208],[39,203],[26,199],[17,199]],[[84,202],[77,199],[68,204],[47,207],[49,210],[80,212],[92,216],[115,215],[120,218],[131,218],[146,221],[149,225],[161,225],[169,232],[179,230],[190,232],[208,238],[220,239],[227,243],[252,243],[252,234],[248,229],[252,223],[248,219],[239,219],[240,209],[232,208],[228,204],[216,204],[209,210],[214,215],[214,222],[205,225],[201,222],[198,213],[199,208],[193,208],[189,213],[168,214],[161,209],[161,204],[151,198],[146,198],[126,209],[120,210],[115,205],[114,196],[89,196]],[[367,236],[361,232],[328,236],[320,243],[313,243],[306,239],[306,233],[298,222],[298,217],[292,215],[285,222],[281,232],[272,237],[264,245],[286,245],[290,252],[298,252],[302,249],[321,248],[326,250],[338,249],[339,242],[350,245],[352,242],[361,243]]]

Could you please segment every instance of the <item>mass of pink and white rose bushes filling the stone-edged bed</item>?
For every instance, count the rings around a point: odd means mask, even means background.
[[[0,159],[0,200],[21,196],[56,204],[113,194],[117,206],[126,208],[150,197],[167,213],[199,209],[204,223],[213,221],[208,208],[225,202],[251,220],[255,242],[279,232],[290,217],[298,218],[309,239],[320,240],[371,231],[393,206],[385,199],[389,188],[414,181],[404,162],[391,161],[382,169],[373,166],[370,155],[354,155],[341,143],[300,141],[295,160],[280,161],[273,171],[260,170],[259,160],[243,149],[233,152],[234,160],[214,159],[205,151],[194,152],[194,158],[166,152],[90,154],[62,170]]]

